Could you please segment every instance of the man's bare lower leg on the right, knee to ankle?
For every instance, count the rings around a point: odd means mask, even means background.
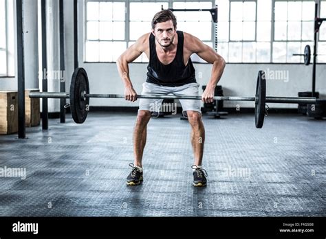
[[[202,166],[205,128],[202,122],[202,115],[197,111],[187,111],[188,121],[191,124],[191,144],[193,146],[194,164]]]

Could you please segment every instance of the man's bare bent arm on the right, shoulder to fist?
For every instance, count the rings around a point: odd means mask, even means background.
[[[217,82],[221,79],[226,62],[224,58],[217,54],[211,47],[208,47],[208,45],[205,45],[197,37],[192,36],[191,34],[185,35],[185,43],[190,55],[196,53],[203,60],[213,64],[210,80],[208,81],[206,90],[202,95],[202,100],[204,102],[212,102],[214,89]]]

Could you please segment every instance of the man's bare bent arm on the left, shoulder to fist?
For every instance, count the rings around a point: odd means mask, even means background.
[[[149,38],[149,34],[144,34],[141,36],[135,44],[131,45],[126,51],[124,51],[121,56],[119,56],[116,64],[118,67],[118,72],[120,75],[120,78],[122,79],[122,82],[124,84],[124,95],[126,100],[135,101],[136,93],[133,89],[133,84],[131,83],[130,77],[129,77],[129,66],[128,64],[130,62],[133,62],[138,56],[142,54],[142,52],[146,51],[146,47],[148,44],[147,39]]]

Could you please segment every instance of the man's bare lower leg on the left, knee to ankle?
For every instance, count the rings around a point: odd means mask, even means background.
[[[146,144],[147,124],[151,119],[150,111],[138,111],[135,128],[133,130],[134,165],[142,168],[142,153]]]

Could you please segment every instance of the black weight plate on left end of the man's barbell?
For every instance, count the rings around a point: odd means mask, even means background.
[[[84,68],[76,68],[70,84],[70,109],[77,124],[85,122],[89,110],[89,98],[84,100],[83,92],[89,93],[87,73]]]

